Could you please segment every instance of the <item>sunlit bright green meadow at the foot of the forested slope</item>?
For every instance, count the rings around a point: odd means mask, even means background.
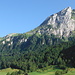
[[[29,73],[29,75],[55,75],[55,72],[57,70],[59,69],[47,69],[41,72],[31,72]],[[14,71],[18,71],[18,69],[11,69],[11,68],[3,69],[0,70],[0,75],[6,75],[8,72],[12,73]],[[63,75],[75,75],[75,68],[70,68],[68,73]]]

